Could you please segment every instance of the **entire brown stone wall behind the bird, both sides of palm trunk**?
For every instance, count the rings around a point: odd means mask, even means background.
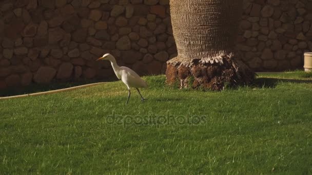
[[[164,73],[177,54],[168,4],[0,1],[0,89],[114,77],[109,62],[94,61],[104,53],[139,74]],[[244,0],[238,49],[255,71],[302,68],[303,52],[312,50],[311,24],[312,0]]]

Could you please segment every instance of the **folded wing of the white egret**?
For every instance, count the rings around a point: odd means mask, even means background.
[[[147,83],[132,69],[127,67],[121,67],[123,71],[123,81],[127,82],[133,88],[147,88]]]

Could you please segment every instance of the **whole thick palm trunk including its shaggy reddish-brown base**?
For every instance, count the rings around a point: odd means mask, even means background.
[[[221,90],[253,80],[235,51],[241,8],[242,0],[170,0],[178,56],[167,62],[167,83]]]

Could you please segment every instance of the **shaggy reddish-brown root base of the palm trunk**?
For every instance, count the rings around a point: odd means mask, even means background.
[[[249,84],[255,79],[251,71],[241,60],[232,54],[221,55],[218,61],[203,61],[175,57],[167,62],[166,82],[178,84],[179,88],[220,91],[225,86]]]

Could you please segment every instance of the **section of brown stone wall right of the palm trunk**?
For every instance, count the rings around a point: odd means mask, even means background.
[[[302,69],[312,51],[311,0],[244,0],[238,49],[255,71]]]

